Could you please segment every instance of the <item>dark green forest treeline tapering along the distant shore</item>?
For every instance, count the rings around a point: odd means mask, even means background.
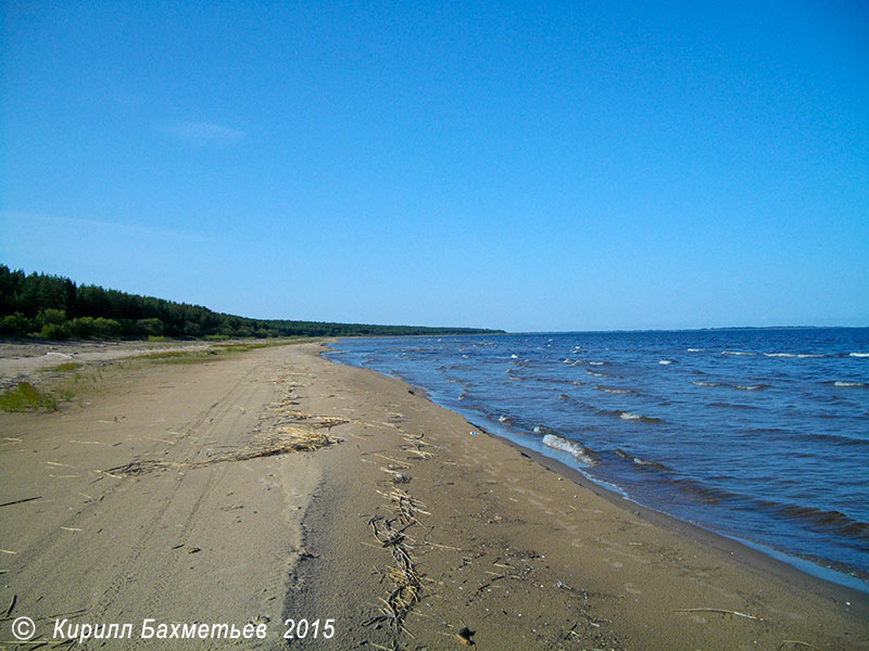
[[[476,328],[416,328],[248,319],[200,305],[77,285],[0,265],[0,336],[64,339],[276,337],[477,334]]]

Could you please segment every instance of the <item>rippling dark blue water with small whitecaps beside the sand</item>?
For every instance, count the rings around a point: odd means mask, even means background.
[[[355,339],[335,348],[327,357],[424,387],[639,503],[869,590],[869,329]]]

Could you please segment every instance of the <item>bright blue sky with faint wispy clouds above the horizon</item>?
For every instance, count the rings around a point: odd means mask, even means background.
[[[251,317],[869,324],[869,4],[2,0],[0,261]]]

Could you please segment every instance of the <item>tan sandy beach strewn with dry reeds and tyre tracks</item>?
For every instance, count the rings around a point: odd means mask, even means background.
[[[606,494],[323,345],[3,347],[5,385],[75,396],[0,413],[0,648],[869,648],[867,595]],[[81,366],[39,370],[60,361]]]

